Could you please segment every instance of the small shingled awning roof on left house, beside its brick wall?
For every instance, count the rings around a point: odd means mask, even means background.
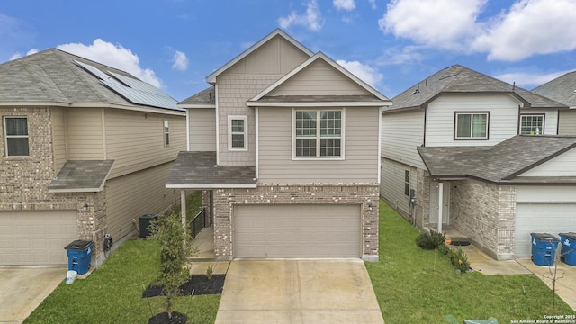
[[[48,185],[50,193],[85,193],[103,190],[113,160],[69,160]]]

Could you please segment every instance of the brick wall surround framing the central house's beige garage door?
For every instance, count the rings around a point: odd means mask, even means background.
[[[350,204],[362,205],[363,258],[378,260],[378,184],[261,184],[256,189],[214,190],[214,253],[233,256],[232,214],[238,204]]]

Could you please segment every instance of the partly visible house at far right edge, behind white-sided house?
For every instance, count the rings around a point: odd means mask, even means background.
[[[566,73],[533,91],[570,107],[560,111],[558,134],[576,135],[576,72]]]

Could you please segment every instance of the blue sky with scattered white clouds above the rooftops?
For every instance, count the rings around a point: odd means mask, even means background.
[[[392,98],[460,64],[532,89],[576,69],[576,0],[18,0],[0,62],[58,48],[176,100],[276,28]]]

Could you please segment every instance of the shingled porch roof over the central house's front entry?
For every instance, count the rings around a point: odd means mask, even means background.
[[[166,179],[166,188],[252,188],[256,166],[217,166],[216,152],[180,152]]]

